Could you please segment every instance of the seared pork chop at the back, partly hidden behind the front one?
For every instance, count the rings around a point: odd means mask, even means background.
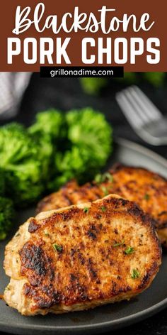
[[[167,246],[167,181],[141,167],[116,165],[99,182],[81,187],[76,181],[71,181],[58,192],[42,199],[38,212],[95,201],[110,193],[119,194],[142,207],[155,220],[160,241]]]

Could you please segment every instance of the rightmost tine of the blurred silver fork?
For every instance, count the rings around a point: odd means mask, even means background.
[[[156,121],[161,119],[161,112],[156,106],[151,102],[149,98],[139,89],[137,86],[132,86],[130,91],[133,94],[133,97],[137,100],[137,104],[141,106],[141,110],[145,112],[145,116],[149,121]]]

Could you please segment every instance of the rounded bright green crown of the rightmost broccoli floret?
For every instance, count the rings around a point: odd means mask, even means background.
[[[68,138],[73,145],[88,150],[88,158],[98,168],[102,167],[110,155],[112,128],[105,116],[91,108],[71,110],[67,114]]]

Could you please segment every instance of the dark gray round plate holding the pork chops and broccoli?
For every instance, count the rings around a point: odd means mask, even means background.
[[[167,161],[159,155],[142,148],[135,143],[117,140],[113,162],[147,167],[167,177]],[[33,210],[25,211],[19,216],[21,224]],[[4,246],[0,243],[0,291],[4,291],[8,278],[2,269]],[[22,317],[18,312],[0,301],[0,330],[13,334],[98,334],[111,329],[118,329],[145,319],[167,307],[167,254],[163,255],[161,269],[151,287],[129,302],[110,304],[87,312],[47,315],[46,317]]]

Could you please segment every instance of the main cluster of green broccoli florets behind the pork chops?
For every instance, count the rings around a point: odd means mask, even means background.
[[[93,178],[111,149],[112,129],[105,116],[91,108],[66,115],[45,111],[28,129],[9,123],[0,128],[1,194],[5,180],[5,195],[26,207],[47,187],[59,187],[73,177],[79,182]]]

